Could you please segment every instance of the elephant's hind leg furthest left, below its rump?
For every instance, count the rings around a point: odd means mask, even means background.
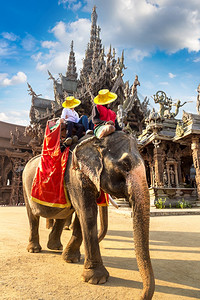
[[[37,253],[42,250],[42,247],[39,243],[39,220],[40,217],[34,216],[31,212],[31,208],[28,203],[26,203],[26,209],[29,219],[29,225],[30,225],[30,234],[29,234],[29,244],[27,246],[28,252],[31,253]]]

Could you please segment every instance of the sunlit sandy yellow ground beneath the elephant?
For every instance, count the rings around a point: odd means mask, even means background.
[[[138,272],[130,212],[109,208],[109,231],[101,242],[106,284],[83,283],[81,262],[67,264],[61,252],[47,249],[49,230],[40,222],[41,253],[28,253],[25,207],[0,207],[0,299],[139,299]],[[64,231],[65,246],[70,231]],[[153,299],[200,299],[200,216],[152,217],[150,251],[156,278]]]

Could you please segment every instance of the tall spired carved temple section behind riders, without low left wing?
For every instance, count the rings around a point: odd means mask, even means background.
[[[69,54],[66,74],[59,74],[56,79],[48,70],[49,80],[53,82],[54,99],[47,100],[35,93],[28,84],[28,91],[32,97],[30,109],[30,125],[26,129],[31,136],[30,144],[33,153],[41,151],[46,122],[61,115],[62,103],[66,96],[75,96],[81,100],[77,107],[79,115],[91,116],[94,105],[93,99],[101,89],[109,89],[116,93],[118,98],[112,103],[112,109],[117,113],[118,121],[122,127],[128,124],[128,128],[136,133],[141,133],[145,128],[144,120],[149,114],[148,99],[142,101],[137,94],[137,86],[140,85],[137,75],[130,85],[123,80],[124,52],[116,57],[115,49],[109,48],[105,54],[100,38],[100,27],[97,25],[96,7],[91,14],[90,40],[87,44],[83,66],[78,76],[73,41]]]

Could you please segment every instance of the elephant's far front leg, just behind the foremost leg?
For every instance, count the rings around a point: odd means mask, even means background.
[[[81,258],[80,253],[80,246],[82,243],[82,232],[80,227],[80,222],[77,217],[77,214],[75,215],[74,221],[73,221],[73,232],[71,239],[69,243],[67,244],[67,247],[63,251],[63,259],[68,263],[75,263],[79,262]]]

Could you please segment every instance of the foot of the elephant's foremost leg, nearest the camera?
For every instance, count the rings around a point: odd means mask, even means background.
[[[109,273],[103,265],[95,269],[84,269],[81,280],[91,284],[102,284],[108,280]]]

